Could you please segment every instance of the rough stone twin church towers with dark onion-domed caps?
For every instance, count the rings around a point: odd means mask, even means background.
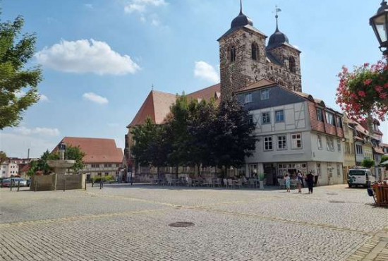
[[[218,40],[221,98],[263,78],[300,92],[301,51],[289,44],[278,25],[266,47],[267,36],[253,26],[240,4],[231,28]]]

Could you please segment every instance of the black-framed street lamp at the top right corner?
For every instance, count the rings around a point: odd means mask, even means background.
[[[375,31],[382,54],[388,55],[388,4],[386,0],[382,0],[377,13],[370,18],[370,26]]]

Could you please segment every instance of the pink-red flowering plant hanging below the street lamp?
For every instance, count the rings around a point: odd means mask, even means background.
[[[353,72],[342,67],[337,88],[337,104],[356,121],[388,116],[388,64],[383,59],[376,64],[365,63]]]

